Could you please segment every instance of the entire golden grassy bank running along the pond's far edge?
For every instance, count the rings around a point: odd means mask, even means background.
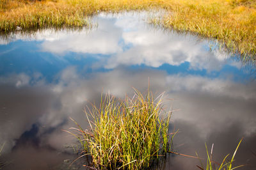
[[[97,12],[164,8],[161,24],[216,38],[228,50],[255,58],[254,0],[0,0],[0,31],[42,27],[86,26]]]

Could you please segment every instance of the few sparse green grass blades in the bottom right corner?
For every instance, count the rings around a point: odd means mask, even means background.
[[[239,145],[241,144],[243,138],[239,141],[239,143],[237,144],[237,147],[236,147],[236,150],[234,151],[233,155],[232,155],[232,158],[230,161],[227,161],[228,159],[228,155],[226,155],[221,164],[218,164],[217,162],[213,161],[212,160],[212,150],[213,150],[213,144],[212,144],[212,148],[211,148],[211,152],[209,154],[209,151],[207,149],[207,145],[205,143],[205,148],[206,148],[206,153],[207,153],[207,164],[206,164],[206,167],[205,167],[205,170],[212,170],[212,169],[218,169],[218,170],[221,170],[221,169],[227,169],[227,170],[232,170],[232,169],[236,169],[238,167],[242,167],[244,165],[241,165],[241,166],[236,166],[236,167],[232,167],[232,164],[234,163],[234,158],[235,158],[235,155],[236,155],[236,152],[239,148]],[[200,166],[197,166],[199,169],[202,169],[204,170],[204,166],[202,164],[202,161],[200,160],[200,163],[201,163],[201,167]],[[216,164],[218,165],[218,167],[216,167]]]

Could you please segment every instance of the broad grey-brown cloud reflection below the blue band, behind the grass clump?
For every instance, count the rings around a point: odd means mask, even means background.
[[[24,73],[20,75],[29,77]],[[174,109],[180,109],[173,112],[172,123],[184,135],[188,135],[188,132],[196,133],[198,139],[190,140],[192,146],[196,144],[196,147],[201,147],[197,142],[200,140],[204,147],[208,137],[231,128],[237,121],[241,127],[239,134],[244,137],[252,138],[256,132],[255,82],[241,84],[228,79],[167,75],[159,70],[134,71],[124,68],[92,73],[84,78],[83,73],[77,72],[75,67],[69,67],[58,75],[58,82],[31,84],[32,81],[29,81],[18,87],[16,85],[20,75],[13,74],[0,79],[0,91],[3,94],[0,97],[1,113],[4,113],[0,114],[0,143],[6,142],[5,151],[14,146],[13,139],[19,139],[25,130],[29,130],[38,121],[41,127],[37,135],[41,145],[49,144],[57,150],[63,150],[64,144],[71,141],[67,134],[60,133],[61,129],[74,127],[71,121],[67,121],[68,117],[87,127],[84,125],[86,117],[83,107],[88,104],[88,100],[99,102],[102,91],[110,91],[116,97],[124,97],[125,93],[132,95],[132,87],[146,91],[148,77],[154,92],[159,94],[167,91],[166,98],[175,99],[171,104],[165,102],[165,108],[173,105]],[[33,80],[34,77],[26,79]],[[49,132],[51,128],[53,132]],[[232,138],[233,134],[228,135]],[[186,143],[186,147],[188,145]]]

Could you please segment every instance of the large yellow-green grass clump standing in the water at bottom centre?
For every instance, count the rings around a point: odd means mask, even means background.
[[[90,130],[79,125],[78,134],[83,151],[92,156],[99,169],[143,169],[164,156],[170,148],[168,125],[171,112],[163,111],[163,94],[154,99],[135,90],[134,97],[117,100],[106,95],[99,108],[86,111]],[[167,114],[161,119],[161,113]],[[77,124],[77,123],[76,123]]]

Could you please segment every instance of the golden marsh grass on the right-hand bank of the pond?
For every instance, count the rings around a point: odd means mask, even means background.
[[[231,52],[254,59],[256,1],[173,0],[170,6],[172,15],[164,17],[164,27],[215,38]]]

